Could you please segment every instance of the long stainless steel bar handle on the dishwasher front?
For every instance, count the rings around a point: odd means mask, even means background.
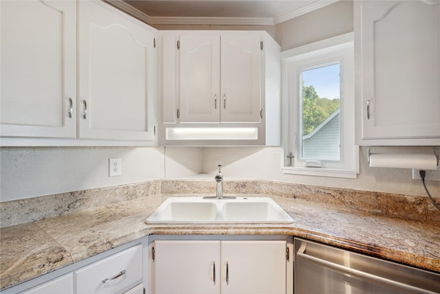
[[[321,258],[316,258],[312,255],[307,255],[306,253],[306,243],[301,244],[300,248],[298,249],[298,252],[296,253],[297,258],[303,258],[304,260],[307,260],[309,262],[313,262],[314,264],[318,264],[320,266],[325,266],[328,269],[333,269],[334,271],[338,271],[340,273],[353,275],[355,277],[361,277],[365,280],[370,280],[373,282],[377,282],[379,284],[384,284],[386,286],[393,286],[394,288],[400,288],[404,291],[410,291],[410,292],[417,292],[417,293],[427,293],[427,294],[435,294],[435,292],[428,291],[419,287],[407,285],[401,282],[396,282],[393,280],[389,280],[386,277],[380,277],[378,275],[373,275],[371,273],[365,273],[364,271],[359,271],[357,269],[351,269],[347,266],[342,266],[340,264],[336,264],[334,262],[329,262],[328,260],[323,260]]]

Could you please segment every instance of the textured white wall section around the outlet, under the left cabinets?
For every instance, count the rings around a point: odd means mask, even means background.
[[[109,158],[122,176],[109,177]],[[1,147],[0,201],[164,178],[164,148]]]

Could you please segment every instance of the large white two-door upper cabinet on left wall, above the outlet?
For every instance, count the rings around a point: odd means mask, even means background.
[[[1,145],[157,144],[155,29],[102,1],[0,14]]]

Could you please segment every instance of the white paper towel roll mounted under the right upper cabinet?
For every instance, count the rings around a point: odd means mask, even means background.
[[[371,154],[370,167],[435,170],[437,157],[434,154]]]

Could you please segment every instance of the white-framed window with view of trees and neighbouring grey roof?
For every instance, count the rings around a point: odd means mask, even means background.
[[[355,178],[353,34],[282,53],[285,174]]]

